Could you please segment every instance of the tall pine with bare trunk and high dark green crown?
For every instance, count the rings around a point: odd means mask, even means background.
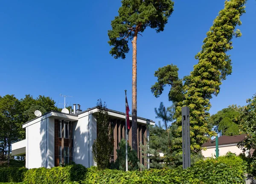
[[[132,40],[132,148],[137,150],[137,36],[146,27],[155,28],[157,33],[164,30],[172,14],[172,0],[122,0],[119,15],[111,21],[108,43],[113,46],[110,54],[115,59],[125,59],[128,40]]]

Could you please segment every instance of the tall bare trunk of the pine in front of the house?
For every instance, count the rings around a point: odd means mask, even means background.
[[[132,40],[132,149],[138,150],[137,144],[137,30]]]

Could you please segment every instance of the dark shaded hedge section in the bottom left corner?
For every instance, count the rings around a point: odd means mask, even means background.
[[[0,182],[22,182],[26,171],[25,167],[0,168]]]

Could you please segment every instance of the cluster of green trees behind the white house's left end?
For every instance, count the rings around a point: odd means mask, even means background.
[[[22,125],[36,118],[35,110],[44,114],[58,108],[49,96],[39,95],[34,99],[28,94],[20,100],[14,95],[0,96],[0,152],[4,156],[9,155],[13,142],[25,139]]]

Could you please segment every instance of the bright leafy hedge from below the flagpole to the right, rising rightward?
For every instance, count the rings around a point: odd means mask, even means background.
[[[238,157],[199,161],[187,170],[150,169],[143,172],[90,168],[84,184],[242,184],[244,167],[233,167]]]

